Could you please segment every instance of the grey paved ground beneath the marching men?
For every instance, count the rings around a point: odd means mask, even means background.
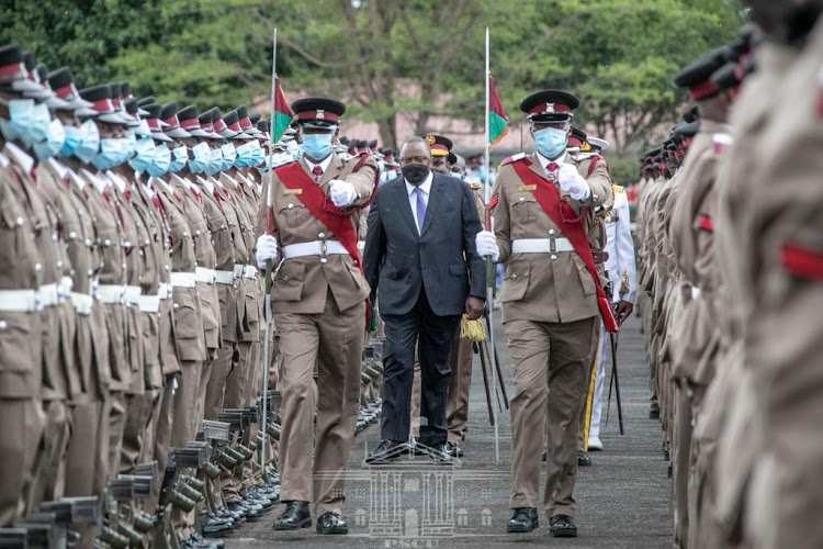
[[[497,329],[496,340],[511,395],[501,329]],[[463,446],[466,457],[460,467],[443,472],[418,460],[382,477],[363,469],[360,463],[367,448],[373,448],[380,439],[380,429],[373,425],[357,437],[352,450],[345,507],[349,536],[320,537],[314,528],[275,533],[271,522],[282,508],[278,506],[262,520],[235,531],[226,539],[226,547],[669,547],[669,483],[659,451],[659,424],[649,419],[647,373],[636,318],[622,330],[618,357],[625,436],[619,434],[612,399],[609,425],[601,428],[605,451],[593,452],[594,467],[582,468],[577,477],[576,539],[551,538],[549,520],[542,513],[539,530],[505,534],[511,482],[509,417],[507,411],[499,414],[500,460],[496,462],[494,428],[489,426],[483,377],[475,359],[470,430]]]

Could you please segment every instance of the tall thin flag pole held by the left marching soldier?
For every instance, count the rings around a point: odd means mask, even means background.
[[[274,234],[274,192],[272,190],[272,164],[274,160],[274,112],[277,111],[274,101],[277,101],[277,80],[278,80],[278,27],[274,27],[271,38],[271,117],[269,119],[269,186],[266,193],[266,234]],[[260,448],[260,469],[266,474],[266,428],[269,419],[269,356],[271,352],[270,341],[272,332],[271,322],[271,268],[272,260],[266,261],[266,340],[263,341],[263,386],[261,389],[262,397],[262,428],[263,428],[263,444]],[[267,479],[268,481],[268,479]]]

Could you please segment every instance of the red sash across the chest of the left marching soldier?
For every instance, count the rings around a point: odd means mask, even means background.
[[[326,193],[323,192],[320,186],[308,177],[308,173],[303,169],[300,163],[289,163],[286,165],[274,168],[274,172],[278,175],[280,180],[290,189],[301,189],[301,192],[296,194],[297,199],[303,202],[303,205],[312,212],[317,221],[326,225],[326,228],[340,240],[346,251],[354,258],[354,262],[362,272],[363,266],[360,261],[360,253],[358,251],[358,237],[354,233],[354,225],[351,223],[349,212],[340,210],[334,204],[327,203]]]

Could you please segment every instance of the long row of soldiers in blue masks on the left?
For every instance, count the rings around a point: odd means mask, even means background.
[[[297,132],[269,154],[246,107],[78,90],[18,45],[0,47],[0,540],[222,547],[206,537],[280,493],[255,244],[263,173]],[[358,429],[379,414],[381,352],[362,354]]]

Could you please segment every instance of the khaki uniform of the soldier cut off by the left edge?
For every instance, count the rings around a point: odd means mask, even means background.
[[[25,184],[5,153],[0,153],[0,290],[35,291],[42,258],[32,235],[38,222],[25,197]],[[11,526],[25,513],[37,447],[45,427],[43,385],[43,312],[10,311],[0,300],[0,413],[9,429],[0,437],[0,525]]]

